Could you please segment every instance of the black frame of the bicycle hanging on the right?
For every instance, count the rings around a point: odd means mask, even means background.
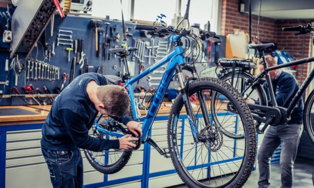
[[[262,55],[260,54],[260,56],[262,56],[262,58],[264,58],[264,54],[262,53]],[[270,106],[263,106],[263,105],[259,105],[259,104],[248,104],[250,108],[256,108],[256,109],[262,109],[265,111],[269,111],[271,109],[274,109],[277,106],[276,100],[275,100],[275,96],[273,93],[273,89],[272,89],[272,84],[271,84],[271,80],[269,77],[269,71],[270,70],[274,70],[274,69],[278,69],[278,68],[283,68],[283,67],[288,67],[288,66],[292,66],[292,65],[298,65],[298,64],[303,64],[303,63],[307,63],[307,62],[311,62],[314,61],[314,57],[308,57],[308,58],[303,58],[303,59],[298,59],[298,60],[294,60],[288,63],[284,63],[284,64],[280,64],[280,65],[276,65],[276,66],[271,66],[271,67],[267,67],[267,64],[265,63],[265,59],[264,59],[264,71],[261,72],[258,76],[256,76],[256,78],[249,83],[249,85],[242,91],[242,95],[243,93],[245,93],[245,91],[251,87],[258,79],[262,78],[263,75],[266,75],[266,82],[268,85],[268,91],[269,91],[269,97],[270,97],[270,101],[272,103],[272,107]],[[281,107],[281,111],[283,109],[283,111],[285,112],[285,116],[286,119],[290,119],[290,115],[291,112],[294,108],[294,106],[296,105],[296,103],[299,101],[299,99],[302,97],[303,93],[305,92],[307,86],[309,85],[309,83],[311,82],[311,80],[314,78],[314,69],[312,69],[310,71],[310,73],[308,74],[308,76],[305,78],[304,82],[302,83],[302,85],[300,86],[299,90],[297,91],[297,93],[295,94],[295,96],[293,97],[292,101],[289,103],[287,108],[282,108]],[[252,110],[252,112],[254,112],[254,110]],[[259,113],[260,114],[260,113]],[[256,116],[254,116],[256,117]],[[261,120],[260,117],[256,120]],[[285,119],[285,120],[286,120]]]

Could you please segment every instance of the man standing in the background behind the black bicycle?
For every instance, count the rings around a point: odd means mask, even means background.
[[[265,56],[268,67],[277,65],[276,60],[270,55]],[[263,60],[260,59],[258,68],[262,72],[264,67]],[[299,89],[296,79],[289,73],[280,69],[269,71],[274,95],[278,106],[287,107],[292,97]],[[267,85],[264,85],[267,88]],[[267,98],[269,98],[268,89],[265,89]],[[268,105],[270,101],[268,101]],[[296,157],[297,146],[302,133],[302,98],[298,101],[291,113],[291,120],[287,124],[278,126],[269,126],[263,141],[258,150],[258,168],[259,180],[258,187],[269,186],[269,160],[275,149],[281,144],[280,169],[281,169],[281,187],[292,186],[292,170]]]

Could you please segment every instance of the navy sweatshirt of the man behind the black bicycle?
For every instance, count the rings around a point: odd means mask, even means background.
[[[278,106],[288,107],[292,98],[295,96],[296,92],[299,89],[299,85],[295,77],[287,72],[279,71],[276,77],[271,81],[273,92]],[[268,105],[271,106],[271,101],[266,87],[267,83],[265,82],[265,91],[267,94]],[[291,113],[291,118],[287,122],[288,124],[302,124],[303,118],[303,100],[302,98],[296,104],[296,107],[293,108]]]

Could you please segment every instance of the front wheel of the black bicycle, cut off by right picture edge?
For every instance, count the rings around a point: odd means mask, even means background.
[[[314,90],[306,99],[303,109],[303,123],[309,138],[314,143]]]

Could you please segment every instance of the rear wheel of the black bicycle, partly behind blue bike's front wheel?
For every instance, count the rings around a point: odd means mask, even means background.
[[[242,93],[244,88],[246,87],[247,81],[249,79],[254,78],[251,74],[247,72],[242,72],[242,71],[236,71],[234,72],[233,75],[233,81],[232,81],[232,72],[229,72],[223,76],[220,77],[220,79],[226,81],[229,84],[232,84],[232,86],[239,91],[239,93]],[[266,96],[265,96],[265,91],[263,90],[262,86],[260,84],[256,84],[253,86],[253,88],[249,88],[244,94],[243,98],[250,98],[254,101],[257,101],[261,105],[266,105]],[[222,95],[217,94],[217,92],[213,91],[212,92],[212,98],[213,100],[211,101],[211,108],[215,113],[213,113],[213,119],[215,123],[220,126],[221,124],[221,118],[219,118],[219,111],[227,111],[228,109],[228,103],[229,101],[223,97]],[[227,105],[218,105],[218,103],[213,102],[213,101],[219,101],[221,103],[225,103]],[[254,120],[254,124],[256,127],[260,125],[261,122]],[[238,133],[232,133],[225,131],[222,127],[222,133],[230,138],[237,138],[237,139],[242,139],[244,137],[243,134]]]

